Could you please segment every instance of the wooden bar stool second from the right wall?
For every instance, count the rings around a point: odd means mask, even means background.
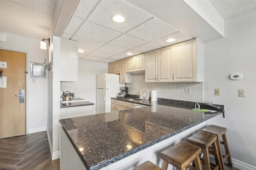
[[[222,170],[222,166],[220,166],[220,157],[218,154],[216,140],[216,135],[204,131],[198,131],[197,133],[195,133],[194,135],[187,139],[188,143],[192,143],[202,149],[204,159],[201,159],[201,163],[204,164],[206,170]],[[213,150],[216,165],[210,163],[209,147],[211,147]]]

